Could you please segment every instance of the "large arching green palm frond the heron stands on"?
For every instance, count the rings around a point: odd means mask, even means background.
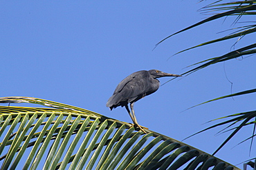
[[[1,169],[237,169],[154,131],[40,98],[0,98]],[[59,107],[59,108],[56,108]]]

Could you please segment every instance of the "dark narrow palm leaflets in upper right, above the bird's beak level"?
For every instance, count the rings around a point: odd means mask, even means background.
[[[214,14],[212,17],[204,19],[203,21],[200,21],[198,23],[195,23],[194,25],[191,25],[188,28],[184,28],[183,30],[175,32],[174,34],[171,34],[170,36],[167,36],[165,39],[159,41],[156,44],[156,46],[159,45],[160,43],[162,43],[163,41],[165,41],[166,39],[169,39],[171,36],[174,36],[175,34],[179,34],[179,33],[184,32],[186,30],[190,30],[190,29],[192,29],[196,26],[199,26],[203,23],[208,23],[210,21],[214,21],[215,19],[219,19],[221,17],[228,17],[230,15],[239,15],[239,17],[241,17],[241,16],[246,16],[248,14],[256,14],[255,11],[254,11],[254,10],[256,10],[256,2],[255,1],[235,1],[235,2],[230,2],[230,3],[220,3],[220,2],[221,1],[216,1],[214,3],[211,3],[209,6],[205,6],[204,8],[202,8],[201,11],[210,12],[210,11],[226,10],[225,12]],[[238,19],[239,18],[237,18],[235,20],[235,23],[237,23]],[[244,22],[244,23],[246,23],[246,22]],[[248,21],[248,23],[249,23],[249,21]],[[255,33],[256,25],[255,24],[253,24],[253,25],[244,25],[244,26],[229,29],[229,30],[236,30],[236,31],[232,32],[231,34],[228,34],[227,36],[223,36],[219,39],[214,39],[212,41],[207,41],[205,43],[201,43],[199,45],[189,47],[185,50],[177,52],[176,54],[191,50],[191,49],[196,48],[196,47],[202,47],[204,45],[210,45],[212,43],[219,43],[221,41],[226,41],[228,39],[234,39],[236,37],[239,37],[239,39],[241,39],[241,37],[243,37],[243,36]],[[216,63],[219,63],[219,62],[228,61],[230,59],[235,59],[239,56],[246,56],[246,55],[256,54],[255,47],[256,47],[256,44],[253,43],[253,44],[250,44],[250,45],[246,45],[245,47],[241,47],[238,50],[233,50],[232,52],[228,52],[227,54],[224,54],[222,56],[217,56],[217,57],[213,57],[211,59],[205,59],[203,61],[199,61],[197,63],[189,65],[188,67],[198,65],[198,64],[201,64],[201,63],[204,63],[204,64],[199,65],[198,67],[195,67],[195,68],[193,68],[193,69],[189,70],[188,72],[185,72],[181,75],[189,75],[193,72],[201,70],[204,67],[208,67],[212,64],[216,64]],[[174,54],[174,55],[176,55],[176,54]]]

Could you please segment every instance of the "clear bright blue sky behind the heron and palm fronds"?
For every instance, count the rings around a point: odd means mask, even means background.
[[[235,18],[228,17],[177,34],[152,51],[161,39],[208,17],[197,10],[210,2],[1,1],[1,97],[44,98],[131,123],[125,108],[110,111],[106,107],[123,78],[138,70],[151,69],[182,74],[189,70],[185,68],[188,65],[234,49],[232,45],[237,39],[172,56],[192,45],[229,34],[217,34],[233,28]],[[235,49],[254,41],[244,37]],[[230,94],[229,81],[233,93],[255,88],[255,61],[254,56],[234,59],[170,81],[134,105],[138,123],[183,140],[217,123],[203,124],[208,120],[255,110],[253,94],[188,109]],[[170,78],[159,80],[163,84]],[[184,142],[213,153],[230,134],[215,136],[220,129],[206,131]],[[231,164],[255,158],[256,143],[250,156],[250,141],[232,148],[252,133],[253,126],[242,129],[215,156]],[[241,164],[237,166],[242,168]]]

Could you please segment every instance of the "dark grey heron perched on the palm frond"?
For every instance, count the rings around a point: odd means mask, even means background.
[[[134,113],[134,103],[141,98],[156,92],[160,85],[158,79],[156,78],[165,76],[179,77],[180,75],[169,74],[161,72],[160,70],[141,70],[134,72],[118,84],[115,91],[113,92],[113,95],[107,101],[107,107],[112,110],[118,106],[125,106],[134,125],[142,130],[145,134],[147,134],[145,130],[138,124]],[[128,107],[129,104],[131,111]]]

